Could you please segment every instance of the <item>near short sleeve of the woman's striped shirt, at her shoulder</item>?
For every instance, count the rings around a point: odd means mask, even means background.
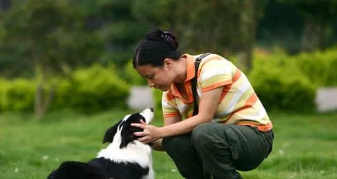
[[[232,84],[232,74],[234,71],[235,68],[232,62],[220,56],[206,59],[201,64],[198,77],[202,92],[210,91],[219,86]]]

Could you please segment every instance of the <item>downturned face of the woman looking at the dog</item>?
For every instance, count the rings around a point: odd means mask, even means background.
[[[146,64],[136,67],[135,70],[146,78],[150,88],[168,91],[175,79],[175,74],[169,66],[164,64],[164,67],[153,67],[151,64]]]

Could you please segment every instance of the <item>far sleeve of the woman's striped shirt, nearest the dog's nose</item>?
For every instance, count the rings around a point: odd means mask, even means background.
[[[180,115],[177,103],[175,102],[175,98],[171,94],[171,91],[166,91],[162,94],[162,112],[164,118]]]

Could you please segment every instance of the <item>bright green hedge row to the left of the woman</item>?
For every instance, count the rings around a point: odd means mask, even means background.
[[[98,64],[88,69],[78,69],[69,78],[58,78],[52,109],[72,108],[80,112],[98,112],[110,108],[126,107],[128,85],[116,75],[113,67]],[[1,80],[0,110],[32,110],[35,80]],[[45,90],[50,86],[45,86]]]

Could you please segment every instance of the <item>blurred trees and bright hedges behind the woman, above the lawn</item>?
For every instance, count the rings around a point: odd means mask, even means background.
[[[318,88],[337,85],[334,0],[0,0],[0,10],[0,111],[128,108],[132,86],[146,85],[133,49],[153,27],[183,53],[237,64],[268,110],[314,111]]]

